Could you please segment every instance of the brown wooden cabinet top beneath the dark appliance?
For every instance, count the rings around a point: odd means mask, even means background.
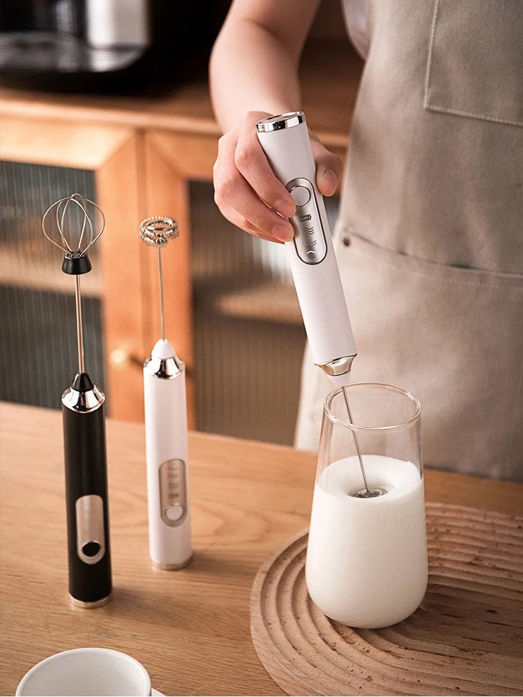
[[[301,61],[301,93],[308,123],[327,148],[343,156],[362,66],[348,40],[310,41]],[[210,136],[197,143],[207,140],[211,148],[215,148],[220,135],[205,74],[192,75],[185,84],[174,85],[163,93],[141,95],[50,94],[3,88],[0,114]],[[190,149],[185,148],[184,152],[187,155],[184,171],[190,172],[197,161],[197,178],[211,178],[209,155],[202,153],[195,160],[195,153]]]

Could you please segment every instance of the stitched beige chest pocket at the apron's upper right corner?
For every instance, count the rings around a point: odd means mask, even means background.
[[[434,0],[425,109],[523,126],[521,0]]]

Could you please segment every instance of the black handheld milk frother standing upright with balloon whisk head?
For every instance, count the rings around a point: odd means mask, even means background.
[[[73,206],[73,208],[70,208]],[[96,230],[89,217],[93,207]],[[64,226],[71,224],[76,211],[79,220],[77,242],[66,236]],[[54,215],[52,215],[54,213]],[[54,226],[51,232],[51,220]],[[75,222],[77,222],[77,220]],[[46,227],[47,226],[47,227]],[[84,334],[80,276],[91,270],[87,251],[105,227],[100,208],[81,194],[56,201],[42,219],[45,237],[64,253],[62,271],[75,277],[75,305],[78,348],[78,372],[63,392],[63,451],[66,466],[66,508],[71,602],[86,608],[105,604],[112,592],[109,552],[109,510],[107,504],[107,465],[105,455],[105,395],[93,383],[84,368]],[[53,239],[56,236],[56,239]]]

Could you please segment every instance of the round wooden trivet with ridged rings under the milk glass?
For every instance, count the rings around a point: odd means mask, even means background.
[[[414,615],[351,629],[308,597],[307,531],[290,539],[252,588],[252,641],[273,680],[289,695],[523,694],[523,518],[427,504],[427,544]]]

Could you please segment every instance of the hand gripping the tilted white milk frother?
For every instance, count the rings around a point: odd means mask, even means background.
[[[214,200],[224,217],[245,232],[270,242],[288,242],[294,229],[287,218],[296,205],[285,186],[275,177],[259,144],[256,122],[271,116],[248,112],[218,141],[213,167]],[[332,196],[342,174],[342,161],[330,153],[309,131],[316,162],[316,185]]]

